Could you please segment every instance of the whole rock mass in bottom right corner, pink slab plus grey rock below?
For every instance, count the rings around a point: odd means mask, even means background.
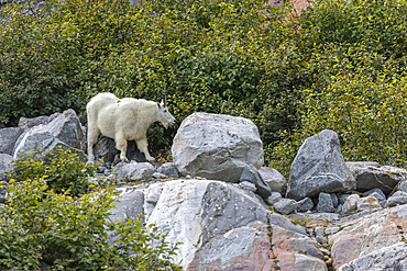
[[[338,232],[336,232],[337,228]],[[406,262],[405,257],[400,259],[400,255],[407,255],[406,205],[382,210],[355,219],[333,223],[327,232],[336,232],[328,236],[328,242],[332,244],[331,256],[334,269],[346,264],[339,270],[397,270],[392,267],[395,268],[400,262]],[[378,256],[378,251],[382,253],[388,251],[391,255],[375,258],[374,256]],[[352,267],[358,268],[352,269]],[[386,268],[381,269],[382,267]],[[406,270],[407,266],[404,268],[400,270]]]

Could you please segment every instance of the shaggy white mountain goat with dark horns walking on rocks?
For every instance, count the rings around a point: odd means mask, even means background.
[[[94,144],[100,134],[113,138],[120,150],[120,159],[127,161],[128,140],[135,140],[138,148],[147,161],[154,161],[148,154],[147,128],[154,122],[161,122],[165,128],[175,123],[168,112],[167,101],[161,103],[143,99],[119,99],[112,93],[99,93],[86,105],[88,114],[88,159],[95,160]]]

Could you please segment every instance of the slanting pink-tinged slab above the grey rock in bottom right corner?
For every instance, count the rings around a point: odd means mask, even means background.
[[[407,233],[407,205],[382,210],[352,221],[333,224],[342,230],[329,236],[333,244],[331,256],[333,268],[372,253],[385,250],[404,240]]]

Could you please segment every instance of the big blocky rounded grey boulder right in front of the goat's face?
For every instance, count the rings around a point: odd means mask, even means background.
[[[194,113],[174,138],[173,158],[184,176],[239,182],[248,165],[263,165],[263,143],[252,121],[238,116]]]

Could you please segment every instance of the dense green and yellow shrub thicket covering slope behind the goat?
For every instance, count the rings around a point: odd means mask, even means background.
[[[405,0],[316,0],[300,13],[261,0],[45,2],[1,10],[0,122],[84,112],[96,93],[160,101],[258,126],[287,173],[304,138],[336,131],[345,159],[406,161]],[[24,11],[24,12],[23,12]],[[154,125],[154,151],[176,126]]]

